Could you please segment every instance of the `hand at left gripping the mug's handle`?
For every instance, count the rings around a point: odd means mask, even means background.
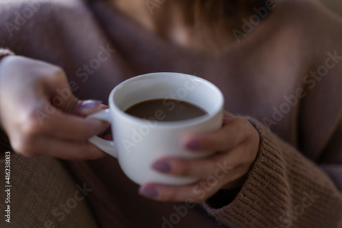
[[[105,153],[87,141],[107,123],[86,119],[100,101],[79,101],[61,68],[10,55],[0,62],[0,127],[12,148],[27,157],[88,160]]]

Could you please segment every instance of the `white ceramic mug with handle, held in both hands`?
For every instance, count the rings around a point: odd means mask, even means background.
[[[127,108],[150,99],[177,99],[202,107],[207,115],[184,121],[157,121],[131,116]],[[88,118],[111,123],[114,141],[96,136],[89,139],[96,147],[116,158],[124,173],[137,184],[162,183],[185,185],[196,181],[174,177],[151,168],[161,157],[199,158],[214,151],[189,152],[182,140],[187,136],[207,133],[222,126],[224,97],[211,82],[181,73],[150,73],[133,77],[116,86],[109,95],[109,109]]]

